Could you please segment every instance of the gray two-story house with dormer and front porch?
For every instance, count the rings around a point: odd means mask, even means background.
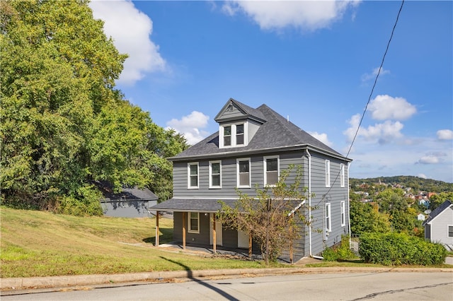
[[[348,167],[352,160],[306,133],[267,105],[256,109],[229,99],[214,118],[219,131],[169,158],[173,198],[152,207],[173,211],[173,240],[248,248],[247,233],[215,220],[219,200],[233,206],[236,189],[256,196],[256,185],[275,184],[280,171],[301,165],[311,226],[294,245],[295,256],[320,254],[348,235]],[[314,194],[314,196],[312,196]],[[157,220],[159,223],[159,220]],[[159,244],[156,227],[156,244]],[[305,234],[306,233],[306,234]]]

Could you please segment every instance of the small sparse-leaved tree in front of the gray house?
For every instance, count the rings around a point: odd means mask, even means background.
[[[256,187],[256,197],[238,191],[239,200],[232,208],[221,201],[222,209],[217,213],[222,223],[253,237],[260,245],[266,264],[276,260],[283,250],[291,249],[292,242],[301,236],[303,226],[309,225],[304,215],[308,206],[302,205],[306,188],[301,187],[300,167],[294,182],[286,183],[292,168],[280,173],[275,187]]]

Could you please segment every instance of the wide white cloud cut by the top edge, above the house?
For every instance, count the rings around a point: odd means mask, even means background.
[[[326,28],[360,1],[227,1],[222,10],[229,16],[241,11],[261,29],[286,27],[301,30]]]

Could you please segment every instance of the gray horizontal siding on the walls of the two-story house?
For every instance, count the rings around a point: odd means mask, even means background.
[[[333,244],[338,244],[341,240],[341,235],[347,235],[349,225],[349,201],[348,201],[348,162],[338,160],[326,155],[311,151],[311,192],[315,194],[311,198],[311,206],[314,209],[311,211],[312,226],[311,226],[311,252],[313,255],[321,254],[325,247],[331,247]],[[289,165],[302,165],[302,187],[309,186],[309,160],[304,151],[288,151],[285,153],[267,153],[266,156],[279,155],[280,175],[283,170],[287,170]],[[238,158],[250,158],[251,160],[251,188],[240,188],[239,191],[246,193],[249,196],[256,196],[256,187],[263,188],[264,184],[264,168],[263,155],[254,155],[251,157],[240,156]],[[326,169],[325,160],[330,160],[331,165],[331,187],[326,187]],[[222,189],[209,188],[209,161],[222,161]],[[199,164],[199,188],[188,189],[188,163],[197,162]],[[345,165],[345,187],[340,187],[340,177],[336,179],[336,175],[340,172],[340,163]],[[236,157],[234,158],[210,158],[209,160],[174,162],[173,163],[173,197],[174,198],[193,198],[193,199],[236,199]],[[287,178],[287,182],[294,182],[295,170]],[[308,193],[308,191],[307,191]],[[345,225],[341,226],[341,211],[340,203],[345,201]],[[325,235],[325,205],[331,203],[331,232],[328,236]],[[309,205],[308,199],[306,206]],[[177,216],[180,213],[175,213],[175,240],[180,235],[180,224],[177,222]],[[308,212],[307,212],[308,214]],[[209,221],[202,223],[202,214],[200,214],[200,235],[188,233],[187,242],[195,242],[209,244],[210,232]],[[180,217],[182,218],[182,216]],[[319,231],[321,230],[321,231]],[[207,231],[202,232],[202,231]],[[179,233],[178,233],[179,232]],[[302,233],[302,237],[297,242],[294,242],[294,256],[309,256],[309,227],[306,227]],[[224,247],[237,247],[237,232],[234,230],[224,229],[223,235]]]

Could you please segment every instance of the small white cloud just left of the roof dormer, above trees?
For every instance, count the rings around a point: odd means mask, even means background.
[[[183,134],[190,145],[193,145],[203,138],[206,138],[207,131],[202,131],[207,126],[209,116],[202,112],[193,111],[181,119],[173,118],[167,122],[168,128],[174,129],[180,134]]]

